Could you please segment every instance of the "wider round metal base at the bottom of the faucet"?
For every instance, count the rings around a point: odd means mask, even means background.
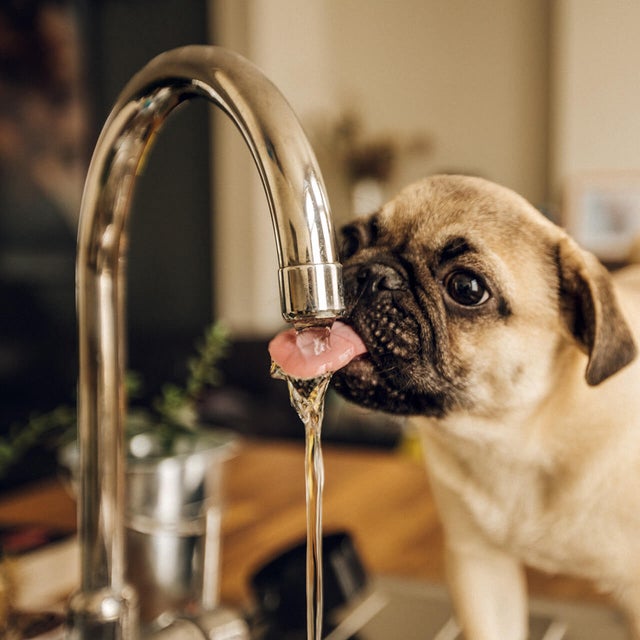
[[[138,637],[138,599],[134,589],[80,591],[71,597],[67,640],[121,640]]]

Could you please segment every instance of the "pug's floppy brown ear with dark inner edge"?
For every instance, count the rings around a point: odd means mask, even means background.
[[[636,344],[599,260],[571,238],[558,244],[560,308],[569,330],[587,353],[586,379],[600,384],[629,364]]]

